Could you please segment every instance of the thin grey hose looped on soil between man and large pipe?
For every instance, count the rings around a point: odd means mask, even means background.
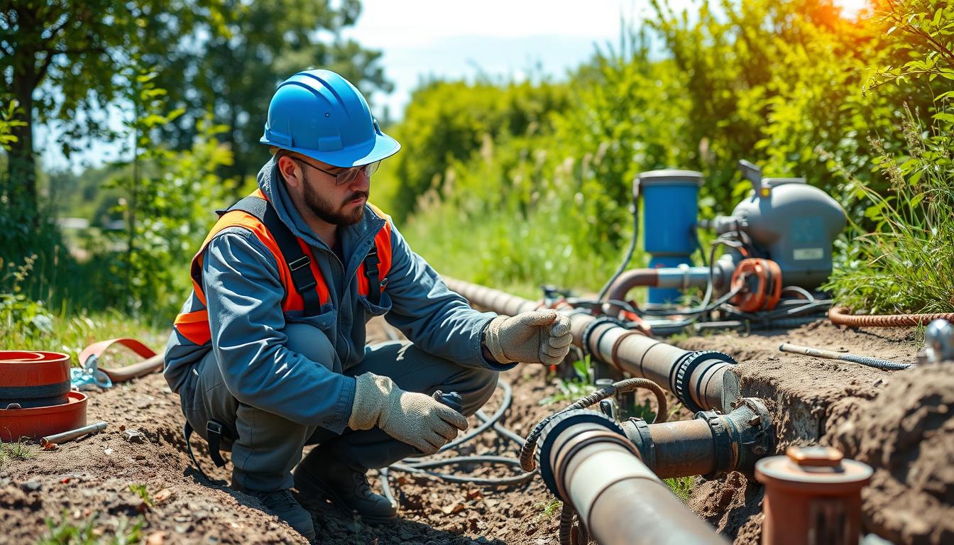
[[[488,428],[493,428],[497,431],[502,437],[508,441],[512,441],[517,445],[523,445],[524,439],[520,435],[517,435],[511,430],[504,428],[500,424],[500,419],[503,418],[504,414],[510,408],[510,405],[513,401],[513,389],[510,388],[510,385],[506,381],[498,381],[497,388],[501,388],[504,391],[504,399],[500,403],[500,408],[491,416],[487,416],[487,413],[483,410],[478,410],[476,413],[477,418],[482,421],[482,424],[473,430],[467,432],[467,434],[457,438],[450,443],[447,443],[444,447],[438,452],[448,451],[459,447],[460,445],[466,443],[467,441],[473,439],[474,437],[480,435]],[[453,456],[450,458],[429,458],[429,457],[416,457],[416,458],[404,458],[402,463],[392,464],[387,468],[383,468],[380,471],[381,474],[381,489],[384,493],[384,496],[392,504],[396,504],[394,493],[391,492],[390,484],[387,479],[390,475],[390,472],[407,472],[414,475],[422,476],[429,479],[443,480],[451,483],[469,483],[475,484],[478,486],[514,486],[526,483],[531,478],[535,472],[524,472],[516,475],[510,475],[507,477],[475,477],[472,475],[459,475],[453,473],[445,472],[432,472],[429,471],[431,468],[439,468],[442,466],[454,466],[454,465],[470,465],[470,464],[500,464],[506,466],[513,466],[516,468],[520,467],[520,460],[516,458],[510,458],[507,456]]]

